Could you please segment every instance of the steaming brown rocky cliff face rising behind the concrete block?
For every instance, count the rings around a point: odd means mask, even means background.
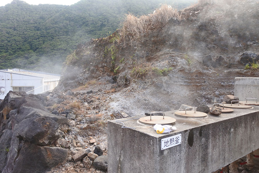
[[[120,92],[110,105],[135,115],[220,102],[234,94],[235,77],[258,75],[249,67],[259,60],[258,1],[199,3],[163,22],[159,10],[133,22],[126,19],[124,26],[139,30],[122,27],[79,45],[64,66],[59,90],[90,80],[104,88],[114,84],[107,89]],[[144,31],[141,22],[148,25]]]

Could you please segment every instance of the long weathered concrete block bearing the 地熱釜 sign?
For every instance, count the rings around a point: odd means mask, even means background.
[[[259,106],[205,118],[176,119],[176,131],[158,134],[138,120],[108,122],[108,173],[210,173],[259,148]],[[132,119],[125,118],[120,120]],[[161,139],[181,134],[182,143],[161,150]]]

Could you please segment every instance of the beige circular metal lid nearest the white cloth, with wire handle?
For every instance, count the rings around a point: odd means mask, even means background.
[[[138,121],[140,123],[147,124],[147,125],[155,125],[155,124],[172,125],[174,122],[176,122],[176,119],[170,116],[164,116],[164,119],[163,119],[163,116],[152,116],[150,120],[150,116],[144,116],[144,117],[141,117]]]

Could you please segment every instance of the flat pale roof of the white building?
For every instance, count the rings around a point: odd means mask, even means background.
[[[16,69],[16,68],[1,69],[0,71],[6,72],[6,73],[26,75],[26,76],[35,76],[35,77],[40,77],[40,78],[44,78],[44,79],[59,79],[60,78],[60,74],[37,72],[37,71],[32,71],[32,70],[24,70],[24,69]]]

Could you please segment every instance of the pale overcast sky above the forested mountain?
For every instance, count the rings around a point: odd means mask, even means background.
[[[0,7],[11,3],[13,0],[0,0]],[[28,4],[38,5],[38,4],[60,4],[60,5],[72,5],[80,0],[22,0]]]

